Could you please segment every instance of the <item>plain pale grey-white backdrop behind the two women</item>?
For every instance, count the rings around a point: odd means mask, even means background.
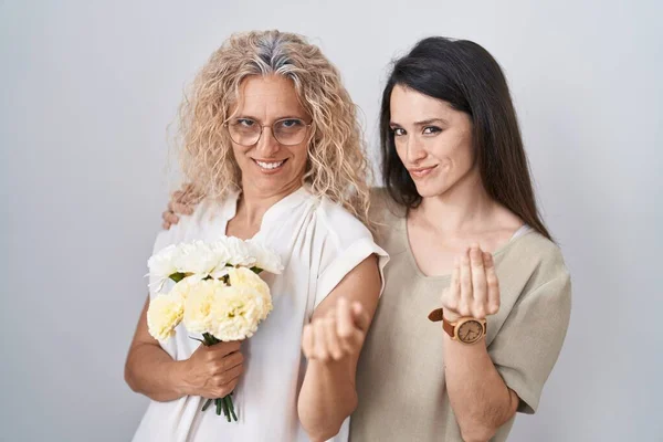
[[[123,365],[171,190],[166,126],[231,32],[272,28],[337,64],[373,156],[394,55],[432,34],[495,55],[575,292],[512,440],[663,440],[660,2],[92,3],[0,1],[1,440],[130,439],[147,402]]]

